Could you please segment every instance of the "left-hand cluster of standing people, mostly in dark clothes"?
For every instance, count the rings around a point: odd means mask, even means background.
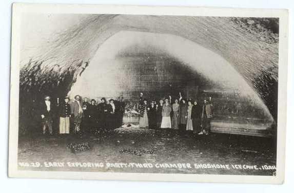
[[[75,95],[74,100],[69,103],[70,99],[66,96],[61,104],[58,103],[57,108],[51,103],[50,96],[45,96],[44,99],[40,108],[43,134],[46,134],[47,130],[50,135],[53,134],[54,114],[59,117],[60,134],[69,134],[70,128],[73,128],[74,133],[80,133],[81,127],[84,132],[91,132],[95,128],[114,129],[122,125],[124,114],[122,96],[117,100],[109,101],[102,98],[101,103],[97,105],[94,99],[90,103],[87,98],[82,101],[80,95]]]

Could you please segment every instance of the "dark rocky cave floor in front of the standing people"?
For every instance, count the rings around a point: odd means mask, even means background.
[[[191,168],[183,167],[187,163]],[[119,128],[83,135],[27,135],[18,142],[19,170],[272,176],[275,165],[275,140],[245,135]]]

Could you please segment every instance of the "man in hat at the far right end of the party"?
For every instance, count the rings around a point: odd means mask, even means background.
[[[209,102],[208,102],[209,101]],[[200,132],[199,134],[206,134],[208,135],[210,132],[210,121],[213,117],[213,106],[211,103],[211,97],[209,97],[209,100],[204,100],[204,104],[202,106],[202,129],[203,132]]]

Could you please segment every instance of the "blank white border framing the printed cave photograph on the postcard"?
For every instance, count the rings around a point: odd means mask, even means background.
[[[10,124],[9,124],[9,177],[16,178],[58,178],[99,180],[144,180],[144,181],[186,181],[186,182],[234,182],[234,183],[276,183],[284,181],[285,133],[287,102],[288,63],[288,11],[275,9],[237,9],[175,6],[126,6],[126,5],[69,5],[69,4],[13,4],[10,75]],[[18,145],[18,96],[21,14],[63,13],[63,14],[135,14],[135,15],[189,15],[222,17],[279,17],[279,84],[278,84],[278,134],[277,175],[237,176],[200,174],[152,174],[152,173],[101,173],[101,172],[41,172],[17,170]]]

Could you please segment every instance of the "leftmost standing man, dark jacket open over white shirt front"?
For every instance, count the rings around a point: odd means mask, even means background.
[[[41,103],[40,114],[42,117],[43,134],[46,134],[48,128],[49,134],[53,134],[53,105],[50,101],[50,96],[45,96],[45,101]]]

